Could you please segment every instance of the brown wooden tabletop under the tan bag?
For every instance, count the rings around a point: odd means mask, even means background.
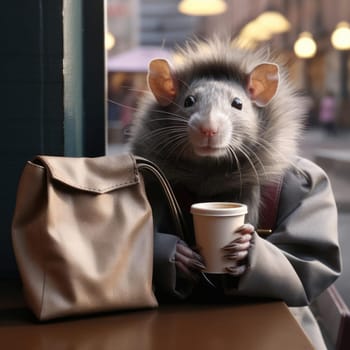
[[[282,302],[166,305],[39,323],[16,293],[0,294],[4,350],[308,350]]]

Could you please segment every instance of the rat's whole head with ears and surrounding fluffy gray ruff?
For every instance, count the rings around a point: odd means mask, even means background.
[[[290,166],[305,104],[283,66],[267,50],[219,40],[190,42],[179,54],[174,65],[150,62],[150,96],[139,106],[132,151],[173,171],[229,164],[240,178]]]

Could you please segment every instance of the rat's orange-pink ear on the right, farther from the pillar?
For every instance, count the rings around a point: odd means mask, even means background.
[[[250,99],[259,107],[266,106],[275,96],[279,82],[278,66],[262,63],[249,74],[247,91]]]

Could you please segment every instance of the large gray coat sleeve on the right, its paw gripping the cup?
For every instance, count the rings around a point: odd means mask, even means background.
[[[277,228],[267,238],[254,234],[249,267],[238,288],[226,294],[308,305],[341,270],[337,208],[329,179],[316,164],[297,161],[280,196]]]

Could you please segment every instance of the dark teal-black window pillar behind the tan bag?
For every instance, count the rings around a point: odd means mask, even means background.
[[[104,7],[104,0],[1,3],[0,278],[16,275],[11,222],[26,161],[105,154]]]

